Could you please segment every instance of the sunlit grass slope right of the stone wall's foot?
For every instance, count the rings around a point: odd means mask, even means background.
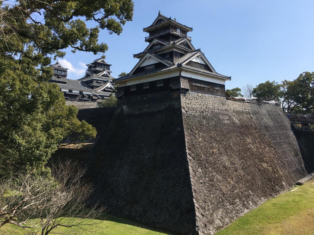
[[[215,235],[313,235],[314,179],[295,188],[268,200]]]

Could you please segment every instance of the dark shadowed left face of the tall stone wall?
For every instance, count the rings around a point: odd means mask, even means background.
[[[111,213],[196,234],[178,92],[120,99],[87,160],[93,198]]]

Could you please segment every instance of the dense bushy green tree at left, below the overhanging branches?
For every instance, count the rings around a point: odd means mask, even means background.
[[[77,108],[65,104],[58,85],[47,82],[51,69],[40,73],[37,63],[26,56],[20,62],[0,56],[1,175],[44,170],[67,135],[75,132],[80,140],[96,135],[95,128],[78,121]]]

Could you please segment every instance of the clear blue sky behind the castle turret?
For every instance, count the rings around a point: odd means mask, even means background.
[[[201,48],[214,69],[232,76],[226,88],[261,82],[294,80],[304,71],[314,71],[314,1],[148,1],[135,0],[133,21],[122,34],[100,33],[100,42],[109,46],[106,61],[112,75],[129,72],[143,51],[149,26],[158,15],[176,18],[193,27],[188,35]],[[87,24],[94,26],[92,23]],[[69,69],[69,79],[83,76],[84,64],[100,56],[70,49],[61,61]]]

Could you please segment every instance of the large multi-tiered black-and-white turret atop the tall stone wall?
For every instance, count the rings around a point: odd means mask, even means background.
[[[217,73],[203,52],[194,48],[187,35],[192,28],[159,12],[143,31],[149,33],[145,37],[149,45],[133,55],[139,61],[131,72],[115,80],[116,97],[172,89],[225,96],[225,81],[231,77]]]

